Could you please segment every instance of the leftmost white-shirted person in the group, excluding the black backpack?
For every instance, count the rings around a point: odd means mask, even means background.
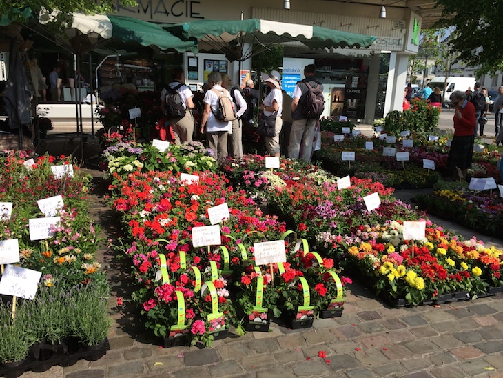
[[[175,89],[180,84],[183,84],[177,89],[178,94],[182,99],[182,105],[185,108],[185,116],[179,119],[170,119],[170,124],[174,134],[174,143],[181,144],[185,142],[192,141],[192,135],[194,134],[194,116],[192,115],[192,109],[194,108],[194,101],[192,101],[194,94],[188,86],[185,85],[185,72],[183,68],[176,67],[171,70],[172,82],[169,84],[171,89]],[[161,110],[164,113],[164,108],[166,106],[166,95],[167,89],[163,88],[161,91]]]

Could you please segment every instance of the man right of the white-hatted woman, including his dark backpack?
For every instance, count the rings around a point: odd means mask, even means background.
[[[316,66],[309,64],[304,68],[305,79],[298,81],[294,89],[294,101],[291,102],[291,125],[288,157],[298,159],[300,146],[305,161],[311,161],[316,122],[325,108],[323,86],[314,77]]]

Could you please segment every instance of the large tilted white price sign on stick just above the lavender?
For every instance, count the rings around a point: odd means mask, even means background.
[[[41,276],[37,270],[8,265],[0,280],[0,294],[33,299]]]

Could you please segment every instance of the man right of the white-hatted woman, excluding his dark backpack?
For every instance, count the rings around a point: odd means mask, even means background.
[[[309,92],[309,88],[307,88],[305,83],[309,83],[309,86],[313,88],[320,86],[323,92],[323,86],[316,80],[314,74],[316,74],[316,66],[314,66],[314,64],[305,66],[305,79],[298,81],[294,89],[294,101],[291,101],[291,119],[293,119],[294,122],[291,124],[290,144],[288,146],[288,157],[291,159],[299,158],[300,145],[302,143],[302,156],[300,157],[305,161],[311,160],[314,129],[318,119],[306,119],[305,116],[302,115],[302,104],[306,101]]]

